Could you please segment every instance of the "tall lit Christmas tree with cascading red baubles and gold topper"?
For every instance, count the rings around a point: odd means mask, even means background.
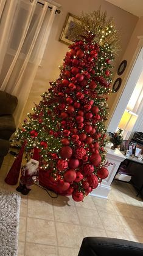
[[[27,141],[28,152],[39,149],[42,186],[82,201],[108,176],[104,122],[118,35],[100,10],[82,13],[70,32],[76,40],[59,77],[24,119],[16,139]]]

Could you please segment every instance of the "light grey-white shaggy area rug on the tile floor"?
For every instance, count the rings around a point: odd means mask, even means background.
[[[18,254],[19,209],[21,197],[0,192],[0,255]]]

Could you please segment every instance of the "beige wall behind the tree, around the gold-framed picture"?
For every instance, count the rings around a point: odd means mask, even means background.
[[[52,33],[49,36],[43,61],[41,62],[41,67],[38,68],[29,99],[24,108],[23,119],[26,117],[26,113],[33,107],[33,102],[38,103],[41,99],[40,95],[44,91],[47,91],[49,88],[49,81],[56,80],[60,73],[58,66],[62,64],[62,58],[64,58],[66,51],[68,51],[68,46],[59,42],[58,39],[68,12],[78,16],[82,11],[91,12],[92,10],[99,9],[101,6],[101,10],[103,12],[106,11],[108,17],[114,18],[117,29],[120,29],[121,37],[121,51],[119,52],[116,61],[114,61],[114,70],[119,66],[119,62],[124,55],[134,27],[138,22],[138,17],[131,15],[131,13],[125,12],[119,7],[113,6],[104,0],[57,0],[57,2],[61,4],[61,13],[60,15],[56,14]]]

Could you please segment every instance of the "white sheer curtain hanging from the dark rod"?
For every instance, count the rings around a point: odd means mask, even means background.
[[[57,7],[42,3],[0,1],[0,90],[18,97],[17,127],[55,18]]]

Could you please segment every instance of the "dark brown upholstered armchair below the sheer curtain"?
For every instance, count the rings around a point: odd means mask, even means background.
[[[0,167],[4,156],[9,152],[9,139],[16,130],[13,112],[17,104],[15,96],[0,91]]]

